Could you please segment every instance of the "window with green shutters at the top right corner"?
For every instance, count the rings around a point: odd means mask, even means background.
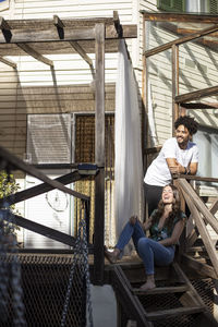
[[[170,12],[218,13],[218,0],[157,0],[157,9]]]

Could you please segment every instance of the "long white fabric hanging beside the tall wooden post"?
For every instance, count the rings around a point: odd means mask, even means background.
[[[117,238],[132,215],[142,217],[143,160],[137,86],[124,40],[119,44],[116,84],[116,225]]]

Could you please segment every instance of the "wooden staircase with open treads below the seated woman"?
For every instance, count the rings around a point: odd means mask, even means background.
[[[171,268],[178,276],[178,281],[180,282],[179,286],[158,287],[145,292],[141,289],[133,288],[122,268],[119,265],[114,265],[112,287],[125,316],[129,319],[135,320],[137,323],[137,327],[152,327],[154,324],[155,326],[158,326],[158,322],[162,323],[165,319],[167,320],[169,318],[178,318],[178,316],[189,315],[195,315],[195,326],[197,327],[218,327],[218,323],[215,320],[208,307],[205,305],[204,301],[178,263],[173,263]],[[173,306],[167,310],[155,308],[155,311],[146,311],[145,305],[143,305],[143,299],[146,296],[166,294],[167,299],[167,294],[170,293],[175,294],[180,303],[179,307]],[[186,327],[185,323],[183,326]]]

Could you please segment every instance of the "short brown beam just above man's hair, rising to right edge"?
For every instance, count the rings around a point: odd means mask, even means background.
[[[185,102],[185,101],[192,101],[195,99],[199,99],[207,96],[213,96],[218,94],[218,86],[211,86],[207,88],[203,88],[199,90],[194,90],[191,93],[182,94],[175,97],[174,101],[177,104]]]

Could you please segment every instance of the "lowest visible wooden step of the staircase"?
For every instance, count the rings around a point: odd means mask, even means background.
[[[146,313],[146,318],[148,320],[159,320],[165,319],[178,315],[191,315],[196,313],[202,313],[205,311],[204,306],[183,306],[183,307],[175,307],[170,310],[159,310],[150,313]]]

